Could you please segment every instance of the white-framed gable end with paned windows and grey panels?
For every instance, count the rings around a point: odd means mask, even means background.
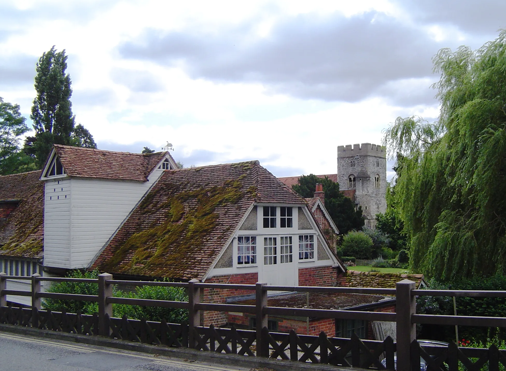
[[[340,264],[307,205],[256,204],[245,215],[208,277],[258,272],[259,282],[297,286],[299,269]]]

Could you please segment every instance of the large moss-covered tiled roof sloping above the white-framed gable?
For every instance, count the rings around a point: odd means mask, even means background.
[[[92,268],[200,280],[254,202],[306,203],[258,161],[165,171]]]

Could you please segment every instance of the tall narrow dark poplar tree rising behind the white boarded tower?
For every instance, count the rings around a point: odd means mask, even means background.
[[[82,125],[75,124],[72,114],[72,89],[65,50],[57,52],[54,45],[39,58],[35,76],[36,98],[30,118],[34,136],[25,140],[24,151],[44,165],[53,144],[97,148],[93,136]]]

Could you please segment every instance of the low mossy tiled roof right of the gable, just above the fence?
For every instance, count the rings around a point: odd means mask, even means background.
[[[346,284],[344,285],[344,283],[338,283],[338,286],[386,287],[395,289],[395,284],[405,279],[414,281],[417,289],[420,285],[426,285],[423,274],[361,272],[358,270],[348,270],[348,273],[346,274]]]

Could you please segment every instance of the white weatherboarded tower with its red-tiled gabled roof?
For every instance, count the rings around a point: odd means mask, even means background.
[[[177,168],[166,152],[55,146],[40,176],[44,266],[87,267],[163,171]]]

